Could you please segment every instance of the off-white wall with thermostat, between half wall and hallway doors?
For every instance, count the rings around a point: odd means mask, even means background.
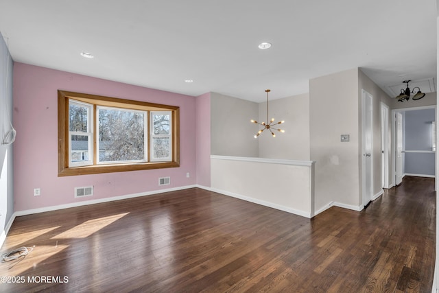
[[[309,80],[311,161],[316,161],[315,209],[359,201],[358,69]],[[349,142],[340,135],[349,134]]]

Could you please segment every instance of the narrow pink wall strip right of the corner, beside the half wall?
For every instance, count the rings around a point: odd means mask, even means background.
[[[197,97],[195,109],[197,183],[211,187],[211,93]]]

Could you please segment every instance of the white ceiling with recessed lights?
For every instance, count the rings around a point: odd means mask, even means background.
[[[0,0],[16,62],[255,102],[355,67],[389,94],[436,80],[436,17],[436,0]]]

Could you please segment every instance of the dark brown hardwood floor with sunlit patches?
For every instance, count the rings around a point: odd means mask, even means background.
[[[431,292],[435,239],[431,178],[312,220],[187,189],[16,218],[0,291]]]

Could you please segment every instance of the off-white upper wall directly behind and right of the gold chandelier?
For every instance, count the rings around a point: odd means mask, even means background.
[[[269,101],[269,119],[285,120],[280,127],[285,133],[261,134],[259,157],[271,159],[290,159],[309,161],[309,94],[294,95],[283,99]],[[267,103],[259,103],[259,120],[267,120]],[[261,127],[259,127],[261,128]],[[254,126],[254,132],[259,129]]]

